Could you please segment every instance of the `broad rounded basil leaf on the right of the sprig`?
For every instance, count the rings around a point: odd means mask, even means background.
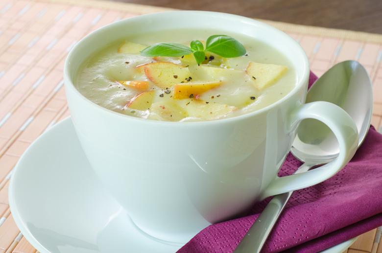
[[[213,35],[206,41],[205,51],[210,51],[225,58],[239,57],[246,53],[245,47],[227,35]]]

